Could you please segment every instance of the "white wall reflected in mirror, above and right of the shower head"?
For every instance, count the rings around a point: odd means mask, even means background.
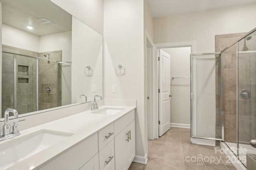
[[[41,36],[39,53],[62,50],[62,61],[71,61],[71,36],[72,31]],[[71,66],[62,64],[62,106],[67,104],[71,104]]]

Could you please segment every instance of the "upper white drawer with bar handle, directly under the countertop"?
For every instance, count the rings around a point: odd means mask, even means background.
[[[107,145],[112,139],[114,139],[114,123],[108,125],[104,129],[98,132],[99,150]]]

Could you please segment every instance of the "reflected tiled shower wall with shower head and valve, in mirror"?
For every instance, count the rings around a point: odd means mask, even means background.
[[[44,57],[50,53],[50,60],[62,61],[62,51],[48,51],[40,53],[39,57]],[[61,106],[61,65],[54,61],[39,60],[38,63],[38,109],[49,109]],[[46,88],[50,87],[51,92],[46,92]]]

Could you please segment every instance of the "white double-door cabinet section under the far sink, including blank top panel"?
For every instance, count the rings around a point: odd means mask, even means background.
[[[123,129],[121,129],[122,131],[118,135],[115,134],[114,138],[116,170],[127,170],[135,157],[134,111],[131,111],[122,118],[114,122],[115,133],[120,131],[119,128]]]

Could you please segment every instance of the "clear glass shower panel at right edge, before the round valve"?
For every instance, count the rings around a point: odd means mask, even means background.
[[[256,139],[256,35],[238,42],[238,158],[246,166],[246,153],[256,154],[250,145]]]

